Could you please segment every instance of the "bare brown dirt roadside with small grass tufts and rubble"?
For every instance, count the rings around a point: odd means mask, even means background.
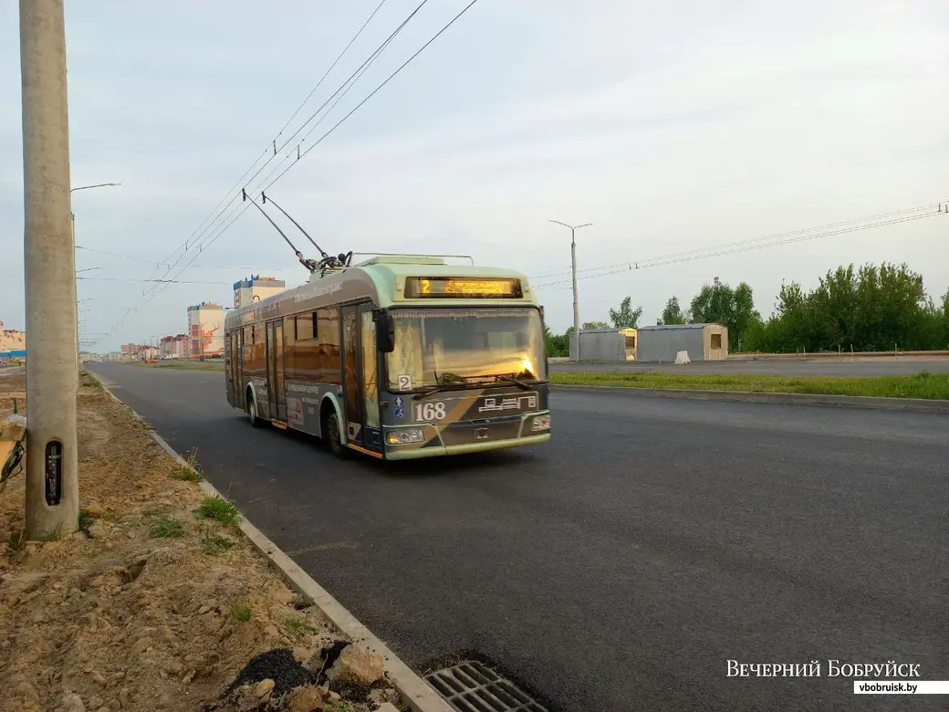
[[[0,376],[0,418],[25,390]],[[0,493],[0,710],[400,708],[128,408],[92,381],[78,408],[83,529],[24,542],[23,473]]]

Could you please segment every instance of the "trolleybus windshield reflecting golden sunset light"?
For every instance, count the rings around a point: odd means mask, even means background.
[[[393,309],[389,390],[508,376],[546,380],[537,309]]]

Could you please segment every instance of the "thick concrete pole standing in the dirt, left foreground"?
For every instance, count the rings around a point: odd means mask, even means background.
[[[27,538],[75,532],[76,263],[69,227],[63,0],[20,0],[27,287]]]

